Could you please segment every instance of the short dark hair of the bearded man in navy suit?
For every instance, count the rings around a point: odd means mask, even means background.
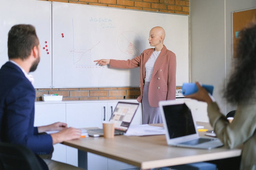
[[[29,24],[18,24],[11,28],[8,33],[8,56],[9,59],[26,59],[34,46],[39,45],[35,28]]]

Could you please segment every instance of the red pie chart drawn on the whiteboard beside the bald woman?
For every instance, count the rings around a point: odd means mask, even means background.
[[[136,56],[140,52],[141,37],[133,31],[126,31],[118,36],[117,45],[123,53]]]

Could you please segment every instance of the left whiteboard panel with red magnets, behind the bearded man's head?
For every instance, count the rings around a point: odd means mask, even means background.
[[[51,23],[52,4],[35,0],[1,0],[0,5],[0,66],[8,61],[8,32],[15,24],[31,24],[35,27],[40,45],[41,60],[34,77],[35,88],[51,88],[52,86],[52,49]],[[47,43],[45,43],[45,41]],[[42,49],[47,45],[47,48]],[[49,54],[46,53],[48,49]]]

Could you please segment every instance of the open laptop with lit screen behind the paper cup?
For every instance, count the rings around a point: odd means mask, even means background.
[[[115,124],[114,135],[123,135],[128,130],[131,121],[139,107],[139,103],[118,102],[113,114],[111,115],[110,122]],[[89,136],[103,136],[103,129],[90,129],[87,130]]]

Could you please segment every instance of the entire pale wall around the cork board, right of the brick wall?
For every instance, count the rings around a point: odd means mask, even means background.
[[[196,80],[214,85],[213,96],[226,114],[222,89],[232,62],[232,11],[256,7],[255,0],[190,0],[190,74]]]

